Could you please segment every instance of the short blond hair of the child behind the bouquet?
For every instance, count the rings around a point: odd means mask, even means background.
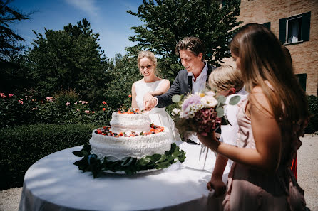
[[[240,91],[244,82],[240,70],[236,70],[230,65],[222,65],[211,72],[209,85],[212,90],[230,90],[234,87],[236,91]]]

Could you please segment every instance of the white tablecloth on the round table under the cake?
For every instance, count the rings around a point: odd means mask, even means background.
[[[81,158],[72,151],[52,153],[32,165],[24,177],[19,211],[24,210],[220,210],[222,198],[206,188],[215,165],[215,155],[199,161],[201,146],[178,142],[186,152],[185,162],[168,169],[119,175],[103,173],[93,179],[73,163]],[[223,180],[226,182],[225,169]]]

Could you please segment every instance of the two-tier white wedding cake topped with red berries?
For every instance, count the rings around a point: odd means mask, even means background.
[[[170,150],[168,134],[151,124],[147,113],[113,112],[110,124],[95,129],[89,140],[91,153],[101,160],[105,156],[108,161],[141,158]]]

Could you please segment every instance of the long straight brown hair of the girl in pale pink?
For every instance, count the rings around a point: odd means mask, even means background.
[[[255,86],[262,88],[281,129],[292,132],[294,124],[309,117],[307,98],[294,75],[292,61],[272,31],[257,23],[242,26],[232,38],[230,50],[240,58],[247,92]]]

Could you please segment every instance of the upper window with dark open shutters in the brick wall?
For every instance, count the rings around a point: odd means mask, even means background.
[[[282,44],[309,41],[311,12],[279,20],[279,40]]]

